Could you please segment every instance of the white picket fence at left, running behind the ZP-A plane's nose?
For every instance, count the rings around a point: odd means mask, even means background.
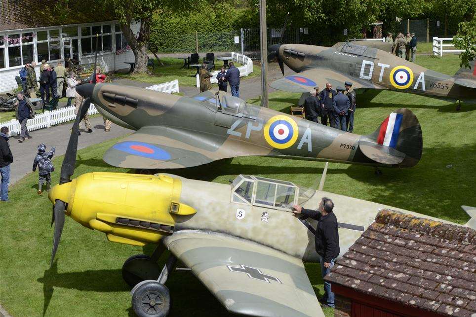
[[[165,82],[163,84],[152,85],[150,87],[147,87],[146,89],[171,94],[179,92],[179,85],[178,80],[175,79],[169,82]],[[96,109],[94,104],[91,104],[91,106],[89,106],[87,114],[92,115],[96,113],[99,113],[98,110]],[[75,106],[63,107],[60,109],[44,111],[41,114],[37,114],[35,118],[28,120],[27,127],[28,131],[34,131],[68,122],[74,120],[75,118]],[[9,136],[19,135],[21,132],[20,122],[16,119],[0,123],[0,127],[5,126],[8,127],[8,130],[10,131]]]

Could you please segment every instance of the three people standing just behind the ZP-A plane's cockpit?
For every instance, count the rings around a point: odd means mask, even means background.
[[[232,96],[239,98],[239,69],[233,62],[230,62],[229,65],[230,67],[228,70],[226,70],[223,66],[216,75],[216,79],[218,81],[218,90],[227,92],[228,84],[230,84]],[[213,77],[213,74],[207,70],[207,64],[203,63],[201,65],[198,75],[200,78],[200,92],[210,90],[210,78]]]

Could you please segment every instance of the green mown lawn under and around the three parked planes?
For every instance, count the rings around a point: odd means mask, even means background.
[[[459,60],[446,57],[422,56],[417,61],[448,74],[459,68]],[[270,94],[270,105],[288,113],[298,98],[297,94],[277,92]],[[358,95],[357,105],[357,134],[373,132],[393,109],[411,109],[422,126],[423,157],[413,168],[383,169],[381,176],[375,176],[370,167],[330,163],[324,190],[466,222],[468,216],[460,206],[476,206],[476,107],[462,104],[461,110],[455,111],[455,104],[391,91]],[[91,171],[130,173],[102,161],[104,152],[116,141],[79,150],[75,176]],[[62,159],[54,159],[54,183],[58,182]],[[322,162],[242,157],[166,172],[220,183],[228,183],[238,174],[251,174],[310,186],[323,166]],[[49,269],[51,203],[47,197],[36,195],[37,180],[36,174],[25,176],[11,186],[11,202],[0,205],[1,305],[13,316],[133,315],[120,269],[130,255],[150,254],[153,247],[110,243],[104,234],[86,230],[66,217],[57,260]],[[306,264],[306,269],[320,297],[318,265]],[[170,316],[228,316],[190,272],[174,272],[167,286],[173,301]],[[333,316],[331,309],[325,314]]]

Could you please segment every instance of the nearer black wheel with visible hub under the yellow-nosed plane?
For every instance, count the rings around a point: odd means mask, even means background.
[[[170,292],[159,282],[146,282],[132,294],[132,309],[138,317],[166,317],[170,312]]]

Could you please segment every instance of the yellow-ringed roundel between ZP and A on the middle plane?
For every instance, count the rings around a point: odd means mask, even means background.
[[[283,149],[296,142],[299,128],[292,118],[276,115],[266,122],[263,133],[268,144]]]

